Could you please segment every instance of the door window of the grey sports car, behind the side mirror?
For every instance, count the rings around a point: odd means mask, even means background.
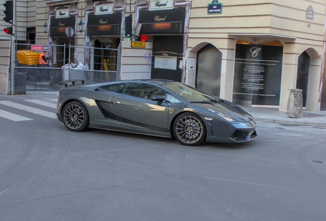
[[[155,95],[165,96],[165,91],[149,84],[129,83],[126,85],[123,94],[144,99],[151,99]]]

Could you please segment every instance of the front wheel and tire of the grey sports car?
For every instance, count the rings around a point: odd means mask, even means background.
[[[173,135],[181,144],[196,146],[206,139],[206,126],[198,115],[184,113],[175,119]]]

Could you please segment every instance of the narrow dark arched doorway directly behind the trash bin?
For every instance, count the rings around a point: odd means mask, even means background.
[[[302,90],[303,106],[307,103],[308,80],[310,69],[310,56],[307,52],[300,54],[298,58],[297,84],[296,88]]]

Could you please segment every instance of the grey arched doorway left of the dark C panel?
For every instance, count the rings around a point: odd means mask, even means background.
[[[197,89],[220,96],[221,63],[222,53],[210,43],[197,52]]]

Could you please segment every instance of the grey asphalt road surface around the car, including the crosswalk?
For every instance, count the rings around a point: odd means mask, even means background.
[[[326,128],[258,122],[251,142],[188,147],[71,132],[55,98],[0,95],[2,221],[326,220]]]

